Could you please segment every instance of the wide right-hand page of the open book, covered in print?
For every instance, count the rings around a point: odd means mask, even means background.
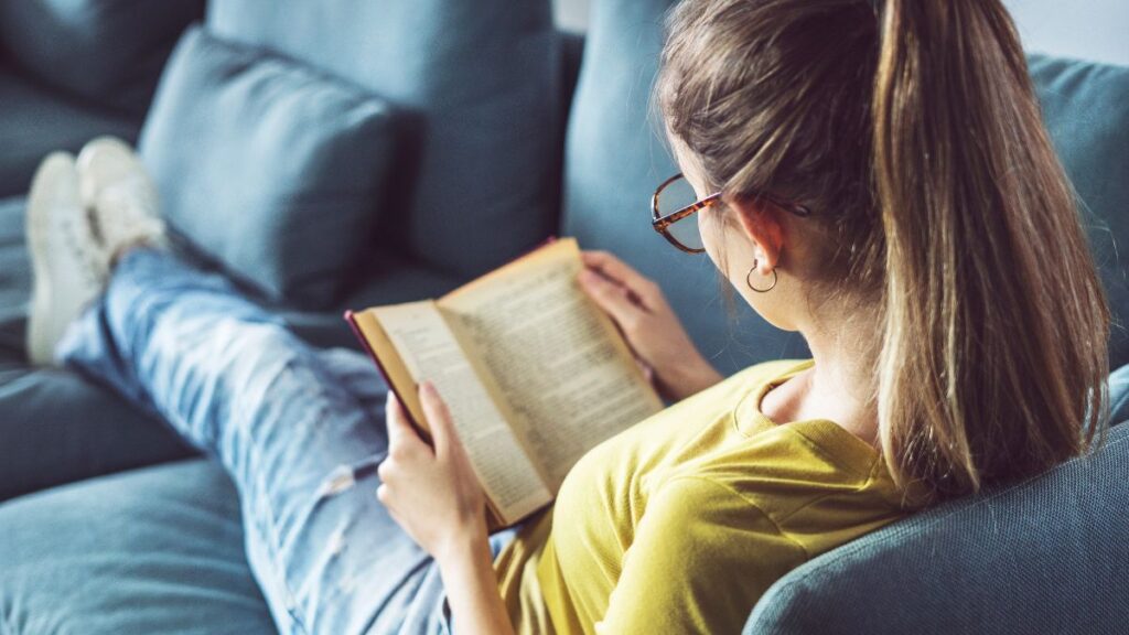
[[[437,302],[492,375],[553,493],[590,447],[663,407],[580,289],[581,268],[576,241],[562,240]]]

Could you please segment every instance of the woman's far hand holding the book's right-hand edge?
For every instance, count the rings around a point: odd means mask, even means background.
[[[682,400],[721,381],[698,353],[663,290],[653,280],[604,251],[580,254],[580,288],[623,332],[636,357],[650,369],[655,388]]]

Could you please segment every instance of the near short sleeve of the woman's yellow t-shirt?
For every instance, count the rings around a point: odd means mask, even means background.
[[[596,633],[739,633],[756,600],[805,559],[746,498],[680,477],[648,501]]]

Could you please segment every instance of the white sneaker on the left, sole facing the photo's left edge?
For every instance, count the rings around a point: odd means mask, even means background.
[[[98,243],[79,194],[75,157],[53,153],[40,164],[27,197],[32,304],[27,356],[54,365],[67,327],[106,285],[110,254]]]

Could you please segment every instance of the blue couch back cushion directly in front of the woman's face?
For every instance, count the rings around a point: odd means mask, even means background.
[[[562,233],[613,251],[658,281],[702,354],[725,374],[755,362],[805,357],[741,298],[726,315],[723,280],[704,254],[675,250],[650,227],[650,197],[676,173],[649,108],[671,0],[594,2],[569,116]],[[728,284],[728,282],[724,282]]]

